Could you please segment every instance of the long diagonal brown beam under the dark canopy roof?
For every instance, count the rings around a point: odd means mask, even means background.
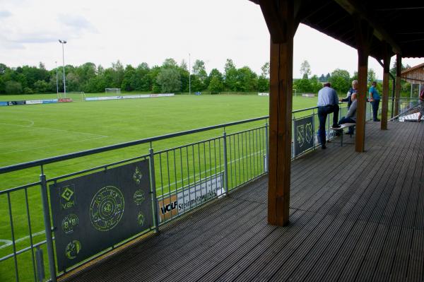
[[[351,15],[355,13],[360,15],[360,17],[366,20],[374,29],[375,37],[377,37],[380,41],[385,41],[389,43],[394,53],[401,54],[401,47],[399,47],[396,41],[389,35],[389,33],[387,33],[386,30],[384,30],[384,28],[382,28],[381,25],[379,25],[379,23],[373,20],[370,13],[368,13],[363,8],[361,8],[356,1],[354,0],[334,0],[334,1]]]

